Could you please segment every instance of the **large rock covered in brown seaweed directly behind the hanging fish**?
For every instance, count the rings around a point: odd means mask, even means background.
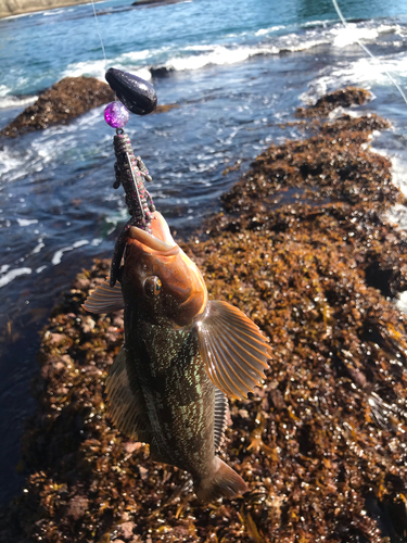
[[[313,125],[316,129],[316,125]],[[105,419],[123,315],[80,304],[109,272],[80,274],[42,332],[38,413],[23,494],[0,541],[400,543],[407,539],[407,242],[385,222],[403,198],[367,149],[378,116],[343,116],[271,146],[183,244],[211,298],[243,310],[272,346],[264,387],[230,404],[221,457],[247,482],[202,505],[186,475]]]

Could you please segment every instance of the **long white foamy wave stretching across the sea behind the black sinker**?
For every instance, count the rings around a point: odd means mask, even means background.
[[[107,66],[131,71],[150,79],[169,72],[201,70],[209,65],[228,65],[244,62],[256,55],[274,55],[307,51],[318,46],[342,49],[358,40],[374,43],[380,36],[403,36],[397,24],[377,24],[371,21],[349,23],[347,27],[332,21],[320,21],[302,27],[271,26],[244,31],[240,35],[226,35],[218,43],[195,43],[182,47],[162,46],[158,49],[143,49],[122,53],[107,60]],[[234,40],[233,42],[231,40]],[[402,40],[403,41],[403,40]],[[104,60],[93,60],[69,64],[63,76],[89,75],[103,79]]]

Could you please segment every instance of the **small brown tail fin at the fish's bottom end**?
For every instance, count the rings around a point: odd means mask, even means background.
[[[243,479],[218,456],[214,458],[214,470],[194,485],[195,494],[202,502],[213,502],[218,497],[236,497],[249,491]]]

